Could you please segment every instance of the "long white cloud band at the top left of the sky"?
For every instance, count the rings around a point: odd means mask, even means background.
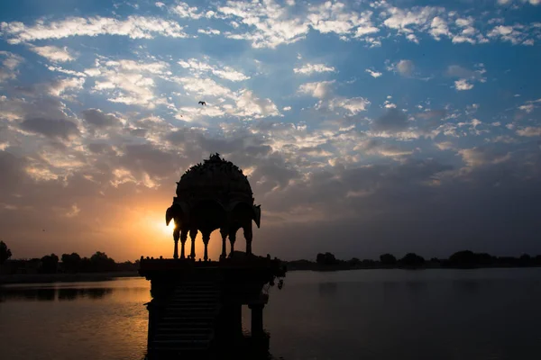
[[[179,23],[156,17],[128,16],[124,20],[108,17],[70,17],[58,22],[39,20],[34,25],[0,23],[0,31],[10,44],[35,40],[62,39],[70,36],[119,35],[131,39],[151,39],[154,35],[186,38]]]

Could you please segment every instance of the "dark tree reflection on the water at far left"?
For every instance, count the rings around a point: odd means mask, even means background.
[[[93,300],[103,299],[111,295],[111,288],[36,288],[36,287],[0,287],[0,302],[29,301],[29,302],[60,302],[74,301],[80,298]]]

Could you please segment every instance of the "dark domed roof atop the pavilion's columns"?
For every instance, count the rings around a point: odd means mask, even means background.
[[[252,187],[243,170],[231,161],[211,155],[191,166],[177,183],[179,200],[214,199],[220,202],[253,202]]]

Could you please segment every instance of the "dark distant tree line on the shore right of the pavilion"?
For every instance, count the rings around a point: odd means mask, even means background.
[[[486,253],[474,253],[463,250],[454,253],[446,259],[432,257],[426,260],[415,253],[408,253],[397,258],[392,254],[382,254],[379,260],[353,257],[350,260],[340,260],[334,254],[319,253],[316,261],[289,261],[289,270],[347,270],[370,268],[476,268],[476,267],[527,267],[541,266],[541,255],[536,257],[527,254],[521,257],[493,257]]]

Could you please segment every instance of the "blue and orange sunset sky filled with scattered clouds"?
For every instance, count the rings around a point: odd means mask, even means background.
[[[539,0],[1,2],[0,238],[171,257],[218,152],[256,254],[541,254],[540,43]]]

